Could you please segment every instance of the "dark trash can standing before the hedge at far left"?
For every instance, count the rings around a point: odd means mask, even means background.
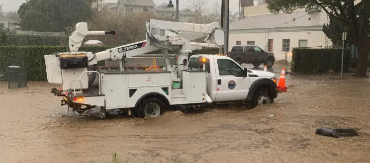
[[[22,73],[22,68],[19,66],[6,67],[6,78],[9,89],[27,87],[27,74]]]

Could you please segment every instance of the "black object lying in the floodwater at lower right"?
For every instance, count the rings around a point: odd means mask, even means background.
[[[363,127],[364,128],[364,127]],[[362,129],[362,128],[360,128]],[[315,134],[319,134],[322,136],[330,136],[334,138],[339,138],[339,136],[359,136],[357,133],[358,130],[355,129],[331,129],[328,127],[318,128],[316,129]]]

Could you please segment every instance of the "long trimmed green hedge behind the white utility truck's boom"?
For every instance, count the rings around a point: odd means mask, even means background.
[[[100,52],[112,46],[85,46],[79,51]],[[4,80],[7,66],[19,66],[27,73],[28,81],[47,81],[44,55],[66,52],[64,46],[0,46],[0,80]],[[193,54],[216,54],[218,49],[203,49]],[[160,51],[151,54],[160,54]],[[103,62],[99,63],[99,65]]]

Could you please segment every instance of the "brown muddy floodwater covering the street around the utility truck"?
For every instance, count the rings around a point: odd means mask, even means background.
[[[276,72],[281,72],[277,70]],[[277,73],[277,77],[279,77]],[[286,75],[276,102],[166,111],[131,119],[112,110],[73,115],[49,93],[53,85],[0,83],[1,163],[369,163],[370,79],[345,74]],[[274,117],[269,117],[274,115]],[[316,128],[361,129],[357,137],[315,135]]]

